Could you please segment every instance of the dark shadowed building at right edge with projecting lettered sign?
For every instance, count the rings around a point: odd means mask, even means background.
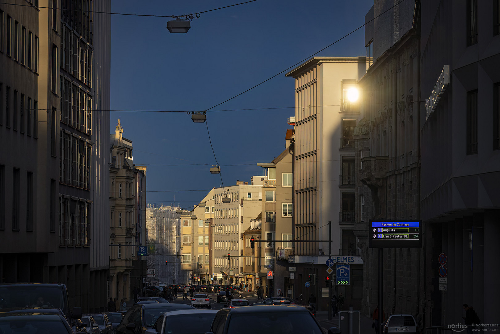
[[[425,101],[419,117],[420,216],[427,246],[422,298],[431,301],[423,320],[425,326],[454,324],[466,303],[483,324],[496,323],[500,4],[419,3],[420,100]],[[447,257],[445,292],[438,279],[441,253]]]

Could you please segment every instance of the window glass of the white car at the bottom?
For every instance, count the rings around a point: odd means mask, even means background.
[[[163,334],[194,334],[210,330],[215,313],[195,312],[190,314],[168,315]]]

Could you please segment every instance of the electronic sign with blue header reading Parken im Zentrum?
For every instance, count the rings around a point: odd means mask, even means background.
[[[369,226],[369,247],[422,247],[420,220],[370,220]]]

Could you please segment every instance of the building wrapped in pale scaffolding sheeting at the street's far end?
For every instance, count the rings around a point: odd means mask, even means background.
[[[173,205],[147,204],[146,245],[148,245],[146,282],[185,284],[189,282],[188,270],[181,270],[180,214]],[[154,246],[151,247],[151,246]],[[150,252],[151,248],[154,252]],[[167,261],[165,263],[165,261]],[[153,274],[149,275],[150,272]]]

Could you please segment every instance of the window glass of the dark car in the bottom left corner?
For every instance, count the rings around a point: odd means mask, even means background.
[[[0,333],[31,334],[31,333],[69,333],[62,320],[54,316],[4,316],[0,318]]]

